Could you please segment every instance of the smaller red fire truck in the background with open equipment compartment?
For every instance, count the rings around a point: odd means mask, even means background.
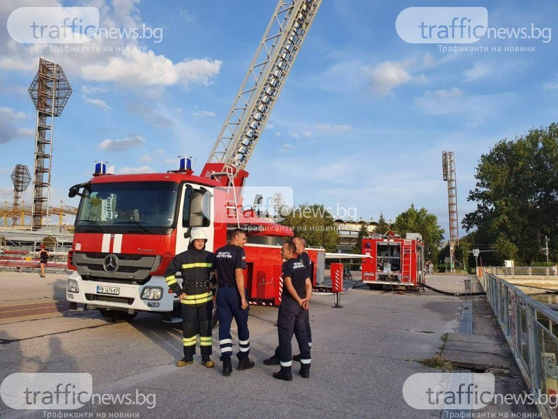
[[[418,291],[424,282],[424,243],[421,235],[407,233],[403,239],[389,231],[362,240],[362,281],[371,289],[398,285]]]

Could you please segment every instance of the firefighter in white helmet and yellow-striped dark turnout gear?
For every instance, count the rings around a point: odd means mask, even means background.
[[[199,330],[199,348],[202,364],[208,368],[215,366],[211,360],[211,316],[213,313],[213,285],[215,279],[215,255],[205,250],[207,236],[204,230],[194,228],[190,234],[188,250],[172,259],[165,270],[165,281],[179,296],[183,318],[184,358],[176,362],[176,367],[184,367],[194,362],[196,335]],[[182,274],[182,286],[174,274]]]

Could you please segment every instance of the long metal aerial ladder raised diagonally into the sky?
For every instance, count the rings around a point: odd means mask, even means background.
[[[202,170],[202,176],[232,189],[235,205],[248,177],[248,160],[321,3],[279,0]]]

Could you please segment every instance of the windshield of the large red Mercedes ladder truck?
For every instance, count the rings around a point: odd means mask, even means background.
[[[169,234],[178,194],[174,182],[91,184],[84,190],[75,231]]]

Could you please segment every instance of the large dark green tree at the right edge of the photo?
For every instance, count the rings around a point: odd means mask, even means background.
[[[558,253],[558,124],[533,128],[513,141],[501,140],[483,154],[467,200],[476,210],[463,227],[476,239],[495,244],[504,258],[530,264],[546,260],[541,251],[550,238],[550,257]]]

